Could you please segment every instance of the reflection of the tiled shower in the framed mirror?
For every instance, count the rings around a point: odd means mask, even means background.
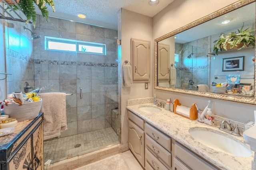
[[[197,90],[198,84],[210,86],[207,38],[184,44],[175,43],[175,53],[179,55],[178,62],[175,62],[176,88]]]

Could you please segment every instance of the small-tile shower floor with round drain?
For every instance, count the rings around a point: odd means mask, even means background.
[[[44,162],[49,159],[51,163],[58,162],[67,159],[70,154],[74,157],[119,142],[112,127],[44,141]]]

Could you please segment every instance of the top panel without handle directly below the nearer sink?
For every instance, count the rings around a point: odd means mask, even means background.
[[[217,170],[214,166],[210,165],[208,162],[192,153],[190,150],[186,149],[179,143],[175,143],[175,156],[182,162],[189,166],[193,170]]]

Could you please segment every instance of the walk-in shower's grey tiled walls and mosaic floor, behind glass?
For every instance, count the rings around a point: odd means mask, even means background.
[[[1,20],[0,24],[5,29],[7,72],[12,73],[7,78],[8,94],[24,92],[25,82],[42,88],[42,93],[72,93],[66,96],[68,130],[44,141],[45,162],[120,143],[117,31],[57,18],[46,23],[42,16],[36,29],[28,24],[26,30],[25,23],[18,21]],[[41,37],[32,40],[29,29]],[[45,36],[106,44],[106,55],[48,51]]]

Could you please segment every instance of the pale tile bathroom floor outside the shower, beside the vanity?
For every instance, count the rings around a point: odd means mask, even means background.
[[[118,165],[118,163],[120,164]],[[109,164],[109,166],[106,164]],[[99,167],[100,170],[143,170],[143,168],[140,166],[136,158],[134,158],[130,150],[82,166],[80,168],[76,168],[74,170],[97,170]]]

